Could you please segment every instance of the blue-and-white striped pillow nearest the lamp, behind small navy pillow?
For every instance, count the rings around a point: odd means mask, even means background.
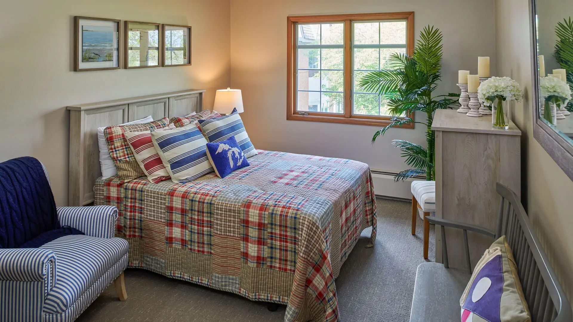
[[[246,158],[257,155],[257,150],[254,150],[253,143],[250,142],[237,109],[233,109],[233,113],[229,115],[210,120],[198,120],[198,122],[210,143],[221,142],[234,136]]]

